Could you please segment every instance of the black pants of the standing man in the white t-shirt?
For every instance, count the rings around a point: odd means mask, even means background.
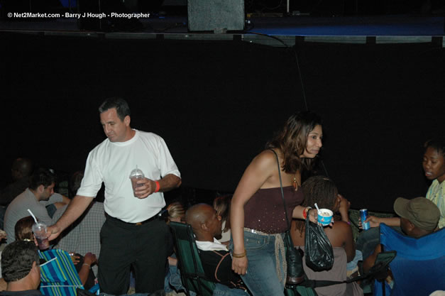
[[[100,234],[98,280],[101,292],[126,294],[131,266],[135,271],[136,292],[163,290],[167,231],[165,221],[159,219],[134,225],[108,216]]]

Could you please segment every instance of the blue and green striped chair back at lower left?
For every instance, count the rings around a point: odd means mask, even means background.
[[[82,282],[70,255],[61,249],[39,252],[45,263],[40,265],[40,292],[48,296],[76,296]]]

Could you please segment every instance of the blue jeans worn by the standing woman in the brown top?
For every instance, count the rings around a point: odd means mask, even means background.
[[[231,241],[233,249],[233,242]],[[275,237],[253,234],[244,231],[244,248],[246,248],[248,268],[242,275],[244,283],[253,296],[282,296],[284,283],[280,282],[276,268]],[[281,256],[281,255],[280,255]],[[285,261],[285,258],[279,259]],[[281,274],[284,274],[280,264]]]

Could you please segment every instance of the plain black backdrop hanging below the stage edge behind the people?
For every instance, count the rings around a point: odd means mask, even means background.
[[[246,165],[304,109],[295,52],[235,41],[109,40],[1,33],[1,180],[26,156],[82,170],[104,139],[97,107],[128,100],[131,126],[165,138],[183,186],[233,192]],[[422,143],[443,134],[440,45],[299,43],[321,168],[355,209],[425,194]]]

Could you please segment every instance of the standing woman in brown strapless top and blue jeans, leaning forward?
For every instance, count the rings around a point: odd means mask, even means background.
[[[310,168],[322,148],[322,120],[311,111],[293,114],[266,150],[241,177],[231,202],[232,269],[254,296],[283,295],[285,262],[282,234],[288,225],[283,210],[277,158],[289,219],[304,219],[302,170]],[[271,150],[275,151],[275,153]],[[315,211],[310,215],[314,216]],[[315,217],[311,220],[316,221]]]

